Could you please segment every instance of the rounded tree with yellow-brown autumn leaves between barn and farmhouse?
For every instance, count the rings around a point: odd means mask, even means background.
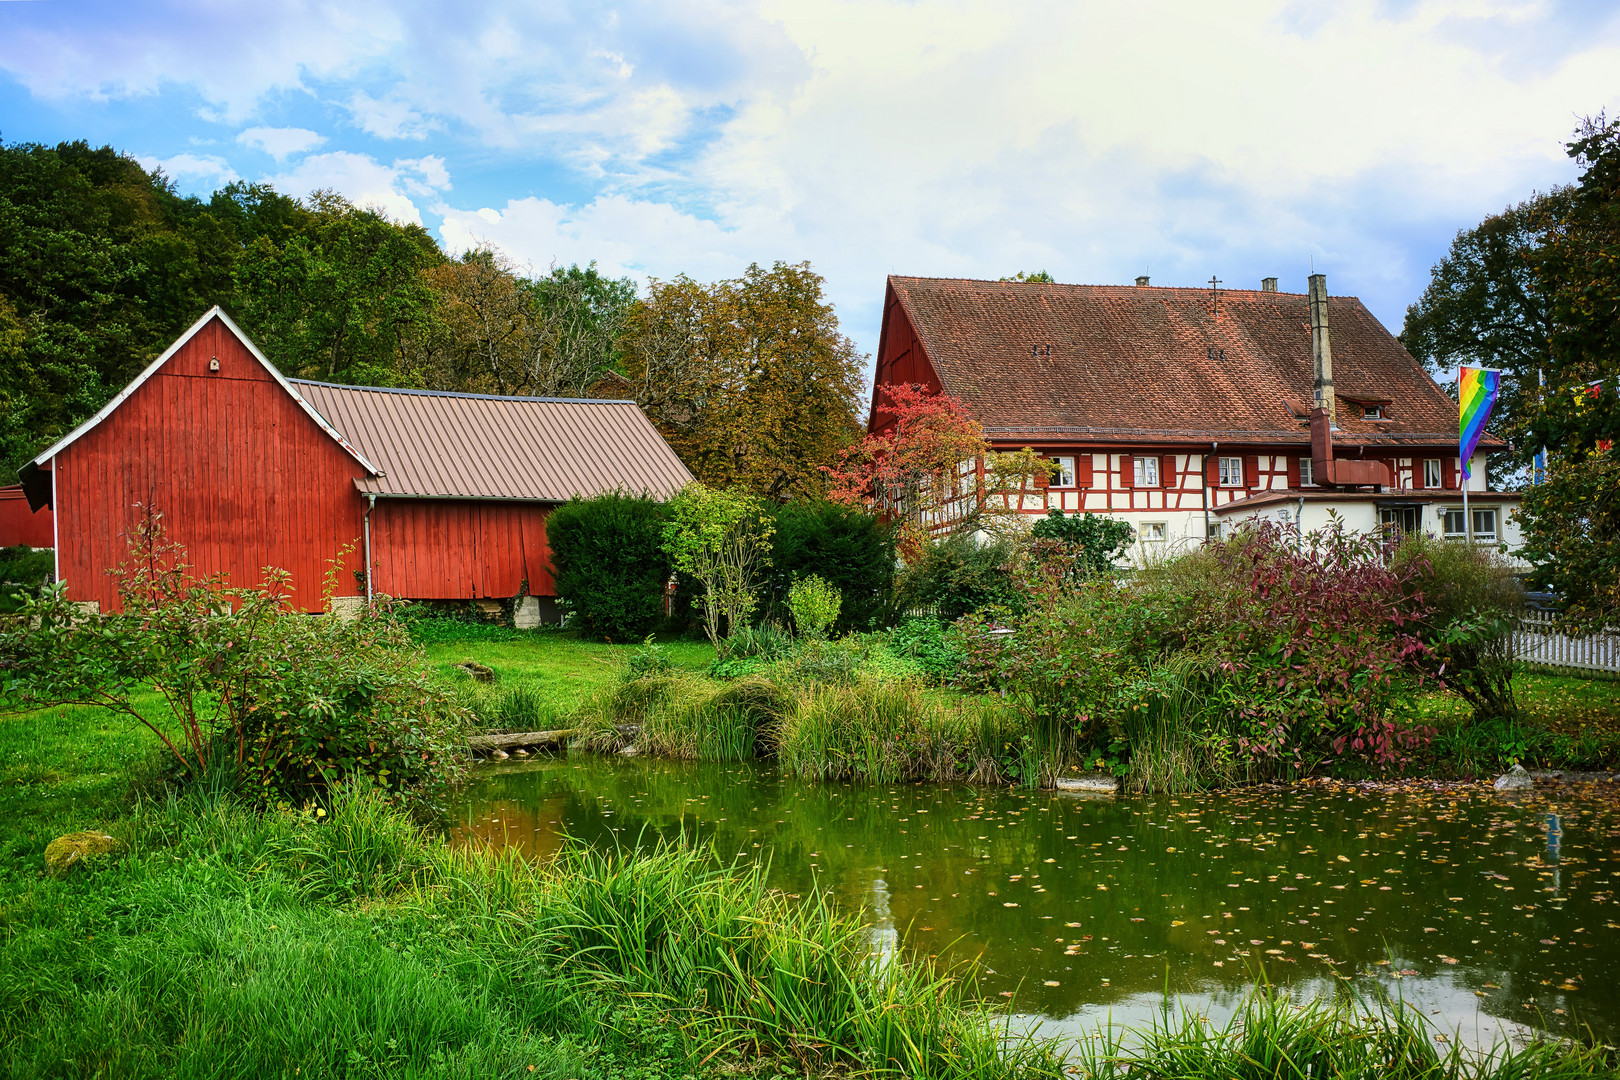
[[[863,358],[808,262],[735,280],[653,282],[624,337],[637,402],[706,484],[818,497],[859,437]]]

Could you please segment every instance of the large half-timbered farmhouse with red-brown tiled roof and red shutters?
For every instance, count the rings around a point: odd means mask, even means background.
[[[1304,529],[1466,534],[1458,415],[1354,296],[889,277],[868,429],[885,385],[967,405],[998,450],[1055,463],[1021,499],[1136,526],[1139,554],[1268,517]],[[1471,463],[1476,539],[1518,544],[1518,495]]]

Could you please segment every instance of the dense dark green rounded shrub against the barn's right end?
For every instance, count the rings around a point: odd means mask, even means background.
[[[669,507],[608,492],[570,499],[546,518],[557,597],[603,641],[640,641],[664,617]]]

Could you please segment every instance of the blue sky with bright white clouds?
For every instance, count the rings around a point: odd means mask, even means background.
[[[0,0],[0,139],[335,189],[612,275],[1304,291],[1392,330],[1620,113],[1612,0]]]

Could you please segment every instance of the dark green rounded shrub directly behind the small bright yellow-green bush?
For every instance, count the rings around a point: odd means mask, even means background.
[[[844,597],[836,633],[889,619],[894,536],[875,515],[831,502],[791,502],[773,510],[771,567],[763,575],[766,610],[782,617],[794,581],[815,575]]]

